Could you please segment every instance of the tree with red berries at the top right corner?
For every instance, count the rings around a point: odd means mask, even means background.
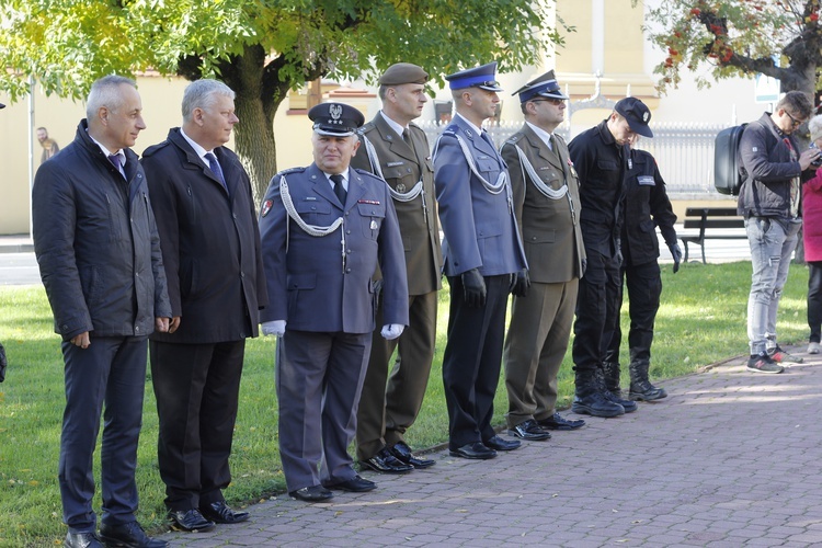
[[[665,0],[651,9],[647,31],[667,52],[654,72],[660,89],[676,87],[681,70],[708,64],[697,84],[757,72],[781,91],[815,96],[822,67],[820,0]]]

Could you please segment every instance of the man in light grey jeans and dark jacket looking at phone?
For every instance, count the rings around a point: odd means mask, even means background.
[[[820,155],[819,149],[799,152],[792,135],[811,112],[808,95],[789,91],[773,113],[763,113],[745,126],[740,139],[745,178],[737,210],[745,218],[753,269],[747,298],[750,372],[781,373],[780,363],[802,362],[779,347],[776,315],[802,226],[802,172]]]

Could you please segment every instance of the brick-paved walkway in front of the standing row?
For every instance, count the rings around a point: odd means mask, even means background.
[[[802,354],[804,347],[794,349]],[[804,354],[802,354],[804,355]],[[812,357],[813,359],[810,359]],[[742,358],[669,397],[488,461],[429,456],[369,493],[281,495],[172,546],[810,546],[822,544],[822,355],[781,375]]]

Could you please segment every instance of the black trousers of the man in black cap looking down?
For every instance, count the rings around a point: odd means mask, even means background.
[[[576,297],[576,320],[573,323],[571,350],[576,372],[593,372],[604,361],[603,341],[614,332],[619,319],[617,300],[620,292],[619,265],[616,258],[596,251],[587,252],[587,267],[580,279]]]

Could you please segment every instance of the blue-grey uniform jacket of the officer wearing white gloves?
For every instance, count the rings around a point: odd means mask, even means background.
[[[344,218],[344,274],[341,229],[315,237],[298,227],[283,204],[283,179],[308,225],[328,227]],[[381,179],[350,169],[343,209],[317,164],[277,173],[263,199],[260,235],[270,302],[261,321],[286,320],[288,329],[299,331],[370,333],[376,307],[372,276],[379,264],[385,322],[408,326],[402,239]]]

